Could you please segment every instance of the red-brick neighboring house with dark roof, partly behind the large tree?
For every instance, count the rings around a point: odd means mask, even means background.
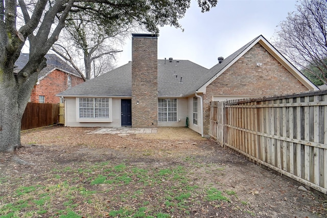
[[[30,102],[59,103],[62,100],[56,94],[84,82],[79,73],[55,54],[46,54],[46,67],[41,70],[32,90]],[[24,68],[29,54],[22,53],[15,62],[17,70]]]

